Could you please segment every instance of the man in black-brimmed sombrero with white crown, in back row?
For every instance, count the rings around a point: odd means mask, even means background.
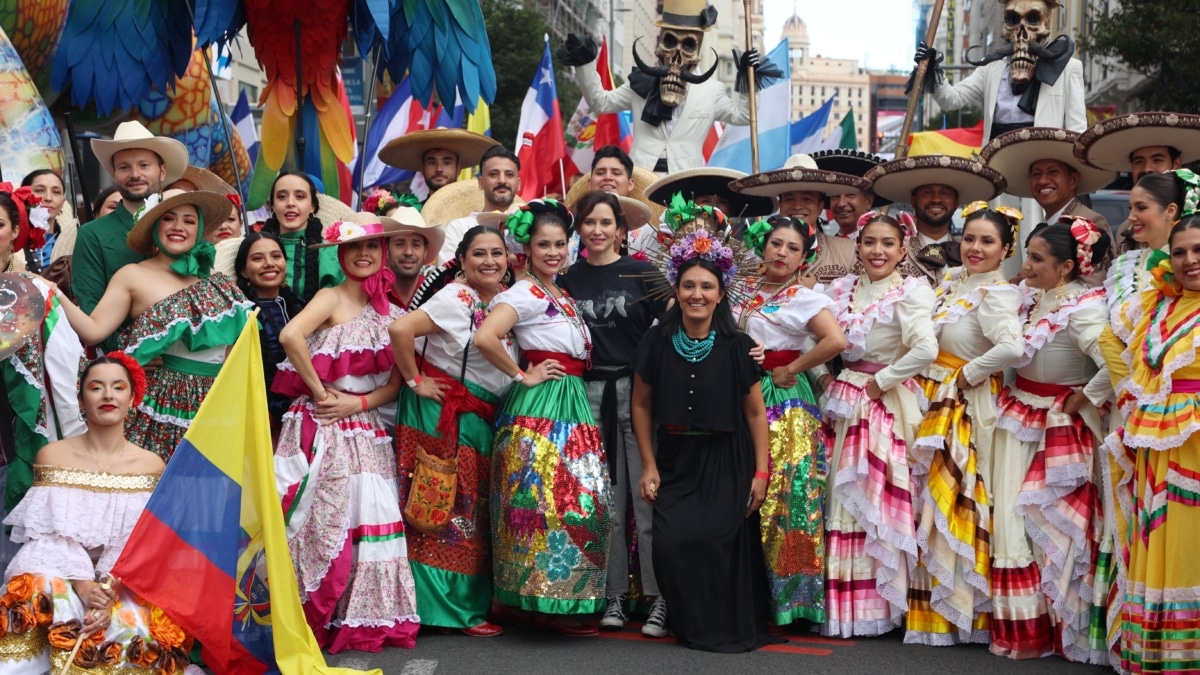
[[[803,220],[817,229],[817,258],[802,279],[809,288],[846,276],[858,262],[853,243],[829,237],[817,225],[826,196],[860,192],[870,186],[859,177],[817,168],[809,155],[792,155],[781,169],[756,173],[730,184],[743,195],[778,195],[779,215]]]

